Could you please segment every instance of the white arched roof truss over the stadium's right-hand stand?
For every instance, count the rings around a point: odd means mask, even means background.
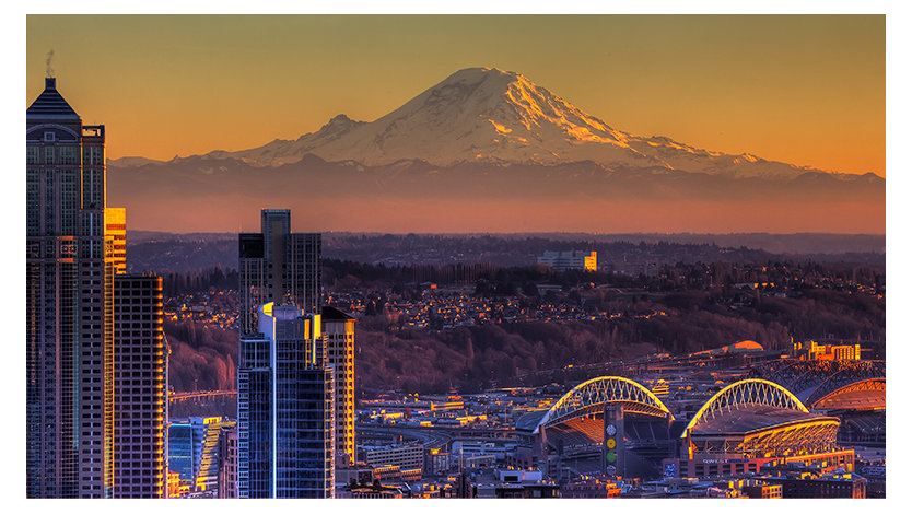
[[[704,419],[714,419],[745,405],[768,405],[808,412],[807,407],[785,387],[770,381],[748,378],[728,385],[706,400],[693,414],[681,437],[686,437]]]

